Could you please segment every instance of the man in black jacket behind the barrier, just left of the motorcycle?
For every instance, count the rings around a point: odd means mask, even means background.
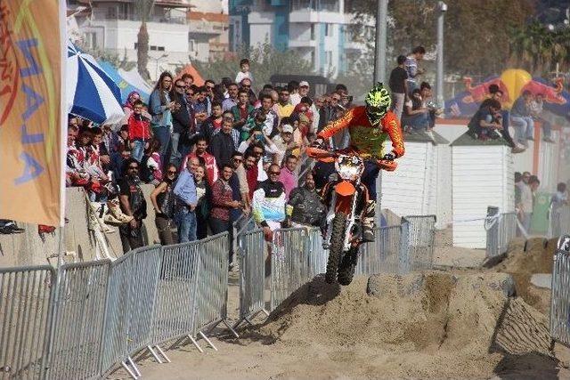
[[[307,173],[305,185],[293,189],[289,194],[286,214],[287,227],[306,225],[323,228],[326,225],[327,209],[315,190],[313,173]]]

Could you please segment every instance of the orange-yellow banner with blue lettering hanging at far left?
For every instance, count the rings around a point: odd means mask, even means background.
[[[65,0],[0,0],[0,218],[61,225]]]

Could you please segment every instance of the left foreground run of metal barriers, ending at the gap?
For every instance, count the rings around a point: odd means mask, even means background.
[[[143,247],[114,263],[0,270],[0,377],[93,378],[160,344],[202,338],[227,323],[228,233],[170,247]],[[57,285],[56,285],[57,284]],[[174,345],[173,344],[173,345]]]

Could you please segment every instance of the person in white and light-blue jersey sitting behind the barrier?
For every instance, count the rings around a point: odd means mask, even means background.
[[[253,193],[253,216],[268,242],[273,241],[273,230],[279,229],[285,220],[285,188],[279,181],[280,175],[278,165],[269,166],[269,178],[259,182]]]

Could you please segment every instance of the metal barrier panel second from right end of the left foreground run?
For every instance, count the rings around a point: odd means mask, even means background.
[[[152,343],[194,334],[201,242],[162,247]]]

